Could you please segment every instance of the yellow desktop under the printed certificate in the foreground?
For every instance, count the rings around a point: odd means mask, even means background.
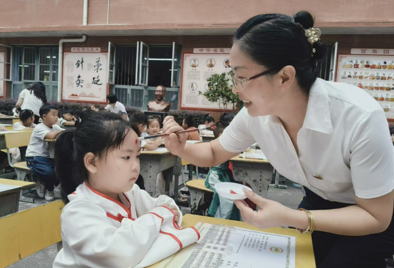
[[[284,229],[280,227],[259,229],[254,226],[248,225],[247,223],[241,221],[231,221],[212,217],[204,217],[199,215],[186,214],[183,216],[182,227],[195,226],[198,222],[210,223],[210,224],[223,224],[227,226],[235,226],[239,228],[245,228],[250,230],[257,230],[267,233],[288,235],[296,237],[296,268],[315,268],[315,256],[312,247],[312,237],[310,235],[302,235],[295,229]],[[193,246],[191,246],[193,247]],[[185,248],[188,249],[189,247]],[[183,250],[182,250],[183,251]],[[177,253],[176,253],[177,254]],[[175,255],[176,255],[175,254]],[[172,259],[168,257],[163,261],[150,266],[150,268],[181,268],[181,266],[176,266],[175,264],[168,264]]]

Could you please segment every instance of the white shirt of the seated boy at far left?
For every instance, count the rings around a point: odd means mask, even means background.
[[[52,128],[49,128],[44,123],[38,124],[31,134],[30,143],[26,150],[26,157],[42,156],[49,158],[48,142],[45,142],[44,138],[47,133],[58,130],[64,129],[58,125],[53,125]]]

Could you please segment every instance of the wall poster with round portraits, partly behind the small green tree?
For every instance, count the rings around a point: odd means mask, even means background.
[[[198,91],[208,89],[207,79],[213,74],[230,72],[230,54],[183,55],[181,108],[220,110],[218,103],[210,102]]]

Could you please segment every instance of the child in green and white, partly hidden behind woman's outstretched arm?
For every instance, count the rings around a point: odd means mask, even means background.
[[[227,122],[217,122],[216,128],[214,129],[214,135],[217,139],[222,135],[225,128],[229,125]],[[233,172],[229,168],[230,161],[212,167],[205,179],[205,186],[214,191],[211,205],[208,209],[208,214],[211,217],[229,219],[229,220],[240,220],[239,209],[234,204],[233,200],[220,196],[215,190],[215,184],[218,182],[235,182],[233,178]]]

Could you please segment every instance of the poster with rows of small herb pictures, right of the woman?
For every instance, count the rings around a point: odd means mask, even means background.
[[[394,56],[339,55],[336,81],[364,89],[394,119]]]

